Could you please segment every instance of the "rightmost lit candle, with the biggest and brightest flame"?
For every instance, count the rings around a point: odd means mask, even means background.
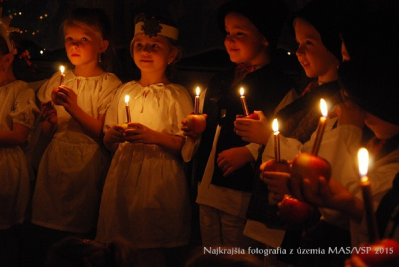
[[[367,229],[369,232],[369,239],[371,243],[379,240],[376,217],[373,209],[373,197],[371,195],[371,183],[369,177],[367,177],[367,171],[369,168],[369,152],[366,148],[359,149],[358,152],[359,160],[359,174],[360,174],[360,186],[363,193],[363,202],[365,204]]]

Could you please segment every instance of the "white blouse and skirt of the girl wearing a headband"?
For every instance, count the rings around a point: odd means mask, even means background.
[[[150,92],[144,97],[146,91]],[[112,101],[105,130],[126,122],[125,95],[130,96],[132,122],[183,136],[181,121],[193,111],[192,99],[184,87],[126,83]],[[137,248],[183,246],[190,239],[190,217],[180,158],[157,145],[119,144],[104,185],[96,239],[123,237]]]

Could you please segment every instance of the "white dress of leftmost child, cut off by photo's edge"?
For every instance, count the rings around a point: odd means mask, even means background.
[[[34,92],[17,80],[0,87],[0,131],[13,123],[33,127],[39,110]],[[0,230],[22,223],[30,199],[30,178],[26,157],[19,146],[0,147]]]

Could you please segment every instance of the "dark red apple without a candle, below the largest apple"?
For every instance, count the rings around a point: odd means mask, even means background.
[[[281,221],[293,225],[304,224],[314,211],[312,205],[299,201],[289,195],[284,196],[278,208],[278,216]]]

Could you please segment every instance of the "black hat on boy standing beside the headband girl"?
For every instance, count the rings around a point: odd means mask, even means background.
[[[277,45],[288,8],[280,0],[232,0],[220,6],[217,22],[225,32],[224,17],[237,12],[247,17],[273,46]]]

